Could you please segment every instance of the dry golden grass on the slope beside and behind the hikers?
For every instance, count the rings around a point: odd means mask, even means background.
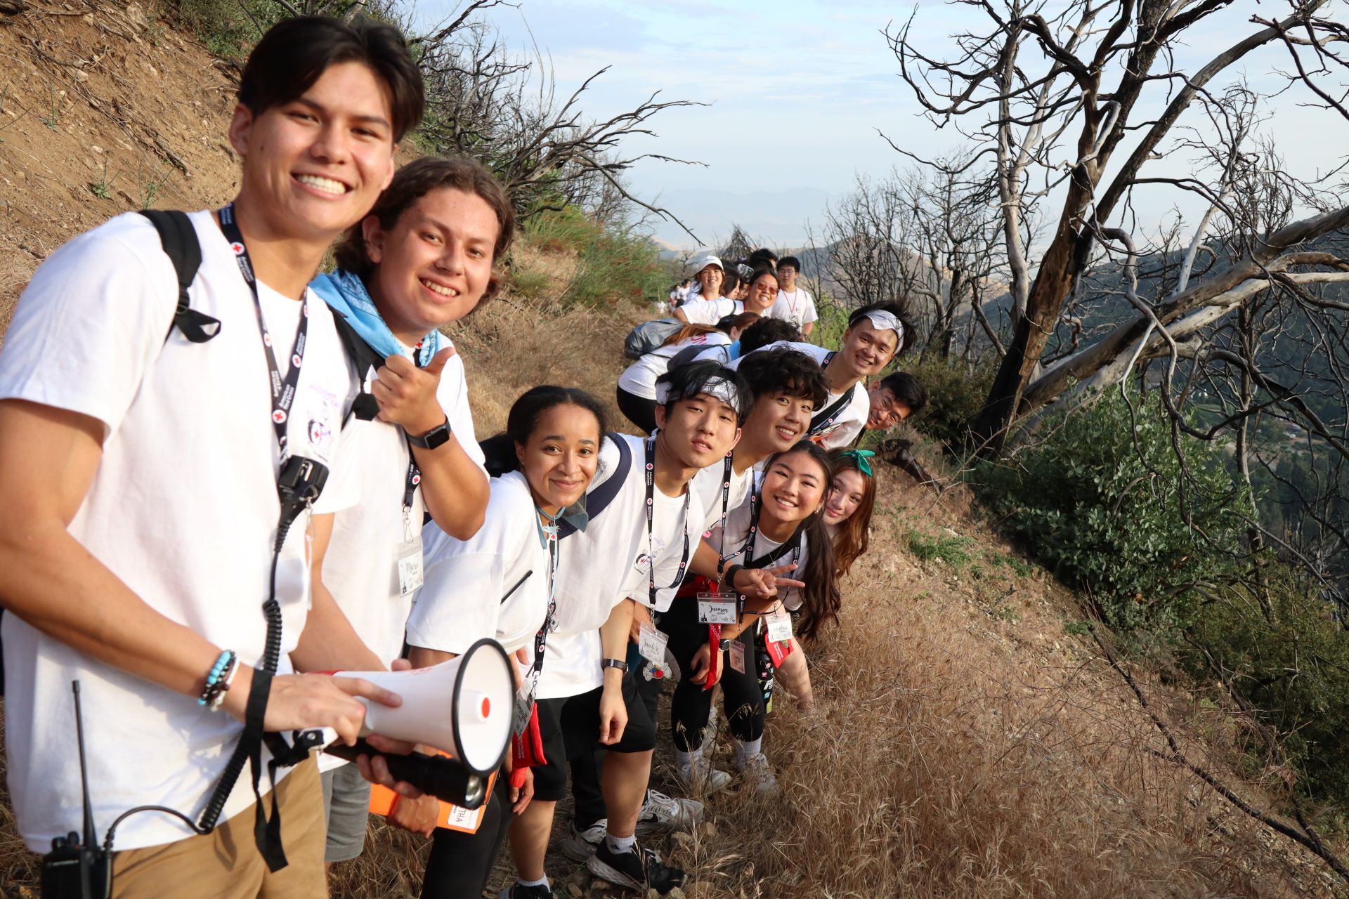
[[[538,383],[611,404],[630,319],[546,299],[486,307],[455,333],[479,434]],[[882,477],[873,550],[844,586],[840,627],[812,654],[817,709],[807,717],[782,698],[769,716],[781,797],[714,797],[710,825],[656,841],[689,872],[688,896],[1333,894],[1319,863],[1151,753],[1161,744],[1117,675],[1064,633],[1072,598],[1013,561],[963,491],[936,503]],[[960,551],[920,562],[915,534]],[[1206,735],[1205,745],[1191,736],[1197,757],[1259,798],[1226,764],[1229,721],[1175,689],[1148,689]],[[728,749],[723,740],[716,751],[723,767]],[[658,784],[669,757],[668,744],[657,751]],[[560,807],[558,832],[565,819]],[[372,824],[333,895],[418,895],[421,844]],[[560,853],[549,873],[560,895],[608,895]],[[490,895],[509,876],[499,864]]]

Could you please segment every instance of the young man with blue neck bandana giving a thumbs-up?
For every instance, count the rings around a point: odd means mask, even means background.
[[[362,501],[336,515],[331,539],[322,530],[316,535],[314,584],[331,590],[376,669],[402,654],[421,581],[424,512],[463,540],[483,523],[487,473],[464,364],[438,329],[491,297],[492,266],[514,222],[510,201],[480,163],[424,156],[399,168],[337,245],[337,271],[313,284],[359,341],[355,373],[374,400],[348,423],[364,431]],[[355,859],[366,841],[370,784],[357,766],[335,756],[322,756],[320,770],[324,859]],[[402,799],[389,822],[430,836],[438,809],[434,797]]]

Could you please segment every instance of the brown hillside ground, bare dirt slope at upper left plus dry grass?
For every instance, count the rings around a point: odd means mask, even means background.
[[[231,82],[171,23],[135,4],[34,3],[0,27],[0,323],[74,233],[142,205],[232,194]],[[452,334],[480,435],[538,383],[611,404],[622,334],[646,317],[600,290],[614,271],[599,229],[532,228],[514,288]],[[942,469],[932,443],[919,449]],[[1178,673],[1132,671],[1168,745],[1086,633],[1079,598],[1001,538],[966,488],[880,477],[871,551],[812,652],[816,710],[784,698],[769,717],[781,795],[716,797],[696,833],[658,841],[689,871],[685,896],[1337,895],[1321,860],[1174,760],[1180,751],[1268,807],[1286,772],[1242,755],[1240,713]],[[417,895],[422,841],[372,829],[367,853],[335,869],[335,895]],[[553,864],[560,895],[608,895],[560,855]],[[0,806],[0,891],[35,888]]]

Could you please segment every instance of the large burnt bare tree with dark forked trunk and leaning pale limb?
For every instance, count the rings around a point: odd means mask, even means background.
[[[912,38],[912,19],[886,36],[928,117],[960,128],[994,159],[1017,314],[987,403],[974,422],[990,450],[1001,447],[1018,418],[1056,399],[1070,383],[1093,376],[1121,353],[1128,359],[1144,334],[1148,346],[1140,356],[1234,314],[1256,288],[1248,283],[1252,279],[1267,288],[1273,276],[1307,284],[1325,283],[1333,274],[1304,271],[1307,260],[1288,251],[1349,222],[1349,210],[1340,206],[1264,235],[1246,256],[1155,307],[1137,307],[1132,321],[1041,372],[1045,350],[1101,248],[1108,244],[1117,255],[1130,255],[1135,249],[1121,237],[1140,243],[1124,230],[1135,189],[1160,182],[1188,189],[1184,179],[1152,177],[1147,168],[1195,100],[1209,96],[1211,82],[1253,50],[1283,43],[1296,69],[1290,80],[1344,115],[1340,100],[1318,80],[1330,81],[1344,69],[1333,46],[1345,28],[1318,15],[1326,0],[1294,0],[1284,18],[1257,19],[1259,27],[1241,40],[1183,71],[1175,66],[1176,47],[1191,28],[1211,32],[1232,0],[1078,0],[1052,13],[1021,0],[960,5],[986,27],[956,35],[951,58],[924,53]],[[1157,117],[1136,121],[1140,102],[1157,101],[1166,102]],[[1028,201],[1055,190],[1062,206],[1031,278],[1024,229],[1014,220]]]

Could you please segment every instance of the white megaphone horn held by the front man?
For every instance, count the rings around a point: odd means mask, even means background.
[[[366,704],[360,736],[379,733],[452,752],[479,775],[495,771],[506,756],[515,681],[496,640],[479,640],[463,655],[426,669],[335,674],[364,678],[403,700],[390,708],[356,697]]]

